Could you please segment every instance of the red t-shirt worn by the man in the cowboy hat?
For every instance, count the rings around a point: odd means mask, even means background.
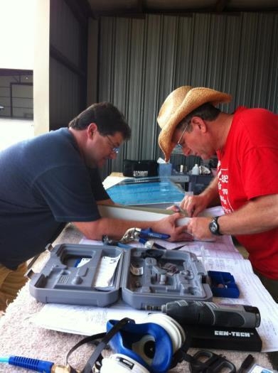
[[[217,155],[218,190],[225,213],[252,198],[277,194],[278,116],[266,109],[238,108],[225,147]],[[252,266],[278,280],[278,228],[236,238],[249,252]]]

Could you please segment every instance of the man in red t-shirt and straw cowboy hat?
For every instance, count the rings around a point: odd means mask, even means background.
[[[266,109],[239,107],[233,114],[215,107],[231,96],[209,88],[179,87],[158,117],[159,146],[169,160],[178,145],[185,156],[218,156],[218,173],[200,195],[181,207],[192,217],[188,232],[197,239],[235,236],[249,253],[255,273],[278,301],[278,116]],[[219,204],[225,215],[197,217]]]

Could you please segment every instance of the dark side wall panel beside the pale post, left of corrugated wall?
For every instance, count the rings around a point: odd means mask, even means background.
[[[50,0],[50,129],[67,126],[86,107],[87,20],[72,4]]]

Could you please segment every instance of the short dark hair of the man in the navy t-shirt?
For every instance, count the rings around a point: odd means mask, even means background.
[[[110,102],[92,104],[70,121],[68,126],[82,130],[86,129],[91,123],[97,124],[97,130],[102,136],[120,132],[123,139],[127,140],[132,132],[124,119],[124,115]]]

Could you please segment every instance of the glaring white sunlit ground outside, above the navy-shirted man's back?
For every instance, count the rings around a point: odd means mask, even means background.
[[[0,151],[34,136],[33,121],[28,119],[0,118]]]

